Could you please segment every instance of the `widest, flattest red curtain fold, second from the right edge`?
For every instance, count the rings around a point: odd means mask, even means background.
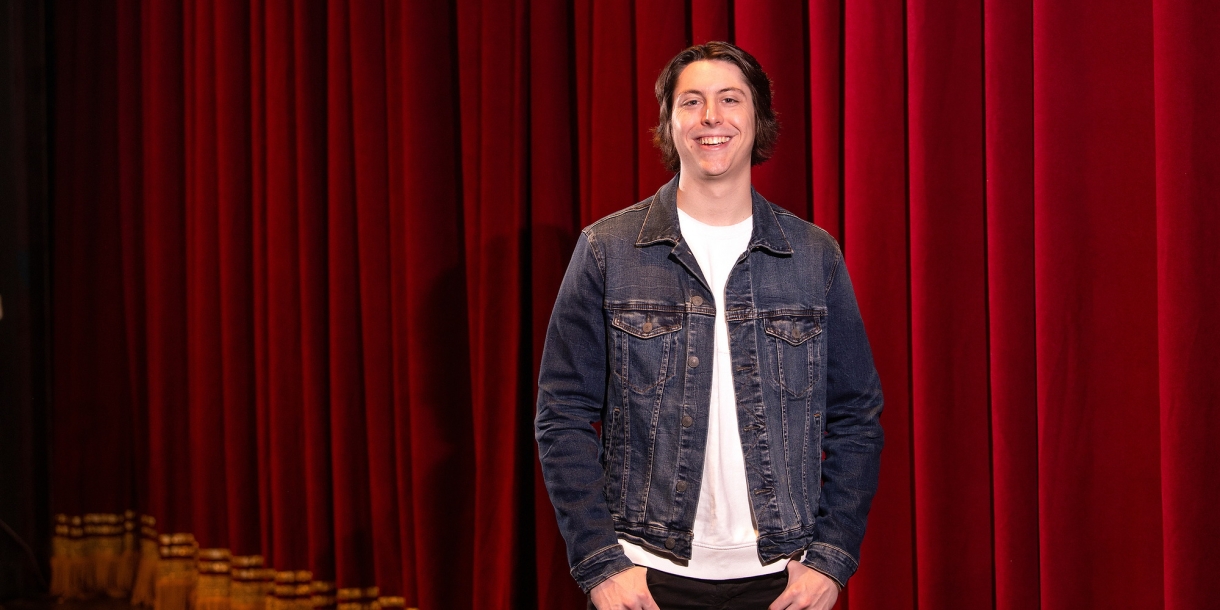
[[[1157,608],[1152,6],[1035,2],[1033,13],[1042,606]]]

